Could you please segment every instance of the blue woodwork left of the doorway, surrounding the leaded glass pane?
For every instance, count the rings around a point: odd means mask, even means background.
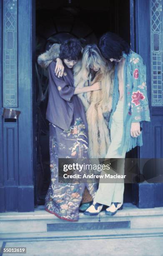
[[[12,1],[10,1],[11,3]],[[3,44],[3,4],[0,1],[0,54],[7,48]],[[17,70],[18,104],[20,110],[16,122],[5,122],[2,117],[3,99],[0,98],[0,211],[28,212],[34,210],[35,165],[35,1],[19,0],[17,5],[18,45]],[[13,3],[12,3],[13,4]],[[9,10],[10,11],[10,10]],[[8,15],[9,16],[9,15]],[[1,60],[3,60],[3,56]],[[0,63],[0,90],[2,92],[5,66]],[[5,86],[5,84],[3,84]],[[4,97],[5,95],[3,95]],[[11,108],[10,104],[6,106]]]

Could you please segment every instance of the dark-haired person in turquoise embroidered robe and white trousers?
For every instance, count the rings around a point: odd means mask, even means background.
[[[142,123],[150,121],[146,86],[146,67],[140,55],[114,33],[100,38],[99,48],[105,59],[115,63],[112,113],[109,121],[111,143],[105,158],[117,158],[118,172],[124,173],[126,152],[142,146]],[[105,175],[105,172],[101,174]],[[98,215],[103,205],[105,213],[114,215],[123,208],[124,182],[103,183],[100,180],[93,205],[84,213]]]

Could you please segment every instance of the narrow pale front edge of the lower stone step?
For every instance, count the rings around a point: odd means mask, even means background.
[[[133,229],[107,229],[107,230],[76,230],[76,231],[51,231],[51,232],[28,232],[28,233],[3,233],[0,234],[0,241],[17,241],[17,240],[49,240],[49,239],[66,239],[72,238],[102,238],[102,237],[139,237],[139,236],[163,236],[163,228],[133,228]]]

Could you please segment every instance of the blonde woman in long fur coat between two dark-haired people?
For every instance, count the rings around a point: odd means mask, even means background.
[[[75,87],[83,88],[100,83],[101,90],[78,94],[86,110],[89,156],[90,158],[105,158],[110,145],[108,119],[112,106],[113,68],[95,44],[87,45],[83,50],[81,62],[74,67]]]

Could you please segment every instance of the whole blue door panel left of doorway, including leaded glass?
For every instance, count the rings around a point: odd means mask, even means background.
[[[33,211],[33,0],[0,1],[0,211]],[[18,119],[3,110],[20,110]]]

